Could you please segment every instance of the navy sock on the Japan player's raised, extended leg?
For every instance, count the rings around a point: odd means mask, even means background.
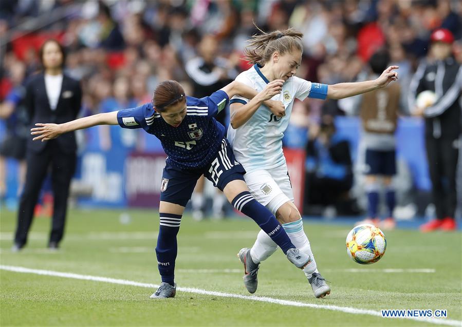
[[[295,248],[276,217],[266,207],[258,203],[249,191],[239,193],[231,201],[231,204],[238,211],[252,218],[271,237],[274,243],[281,247],[284,253],[287,253],[289,248]]]

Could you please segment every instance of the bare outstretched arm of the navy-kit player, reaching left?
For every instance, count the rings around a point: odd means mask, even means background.
[[[31,134],[35,137],[34,141],[42,140],[48,141],[56,139],[63,133],[71,132],[78,129],[88,128],[96,125],[118,125],[117,122],[117,112],[105,112],[94,114],[93,116],[88,116],[84,118],[79,118],[72,120],[63,124],[35,124],[35,128],[31,128]]]

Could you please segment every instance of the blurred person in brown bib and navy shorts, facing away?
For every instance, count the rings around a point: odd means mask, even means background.
[[[369,59],[368,79],[376,79],[389,66],[390,55],[386,50],[374,53]],[[362,121],[362,142],[365,147],[364,174],[367,195],[367,219],[361,223],[372,223],[384,229],[393,229],[396,175],[395,131],[401,91],[397,83],[384,89],[358,95],[359,116]],[[380,189],[385,189],[386,219],[379,222]]]

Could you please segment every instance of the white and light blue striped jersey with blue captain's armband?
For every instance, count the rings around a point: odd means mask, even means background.
[[[256,64],[239,74],[236,81],[252,87],[257,92],[262,91],[269,83]],[[306,97],[326,99],[327,85],[311,83],[293,76],[284,83],[282,92],[271,99],[282,101],[286,116],[278,118],[262,105],[241,127],[234,129],[229,126],[228,140],[234,149],[237,161],[244,166],[247,172],[271,169],[285,163],[282,138],[289,124],[293,102],[295,98],[304,100]],[[248,101],[248,99],[236,96],[230,103],[247,104]]]

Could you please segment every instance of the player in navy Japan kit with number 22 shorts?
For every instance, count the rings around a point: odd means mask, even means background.
[[[229,98],[247,94],[253,98],[249,106],[260,106],[278,94],[283,81],[275,80],[262,91],[232,82],[209,97],[187,97],[176,81],[164,81],[154,91],[153,102],[136,108],[123,109],[81,118],[64,124],[35,124],[33,139],[48,141],[60,134],[96,125],[119,125],[143,128],[156,136],[168,158],[162,174],[159,204],[159,236],[156,255],[162,279],[152,298],[174,297],[176,293],[175,261],[177,234],[184,207],[191,198],[197,179],[204,175],[218,187],[229,202],[252,218],[266,235],[278,243],[290,262],[304,268],[310,257],[299,252],[278,220],[250,195],[244,182],[243,166],[234,158],[225,138],[225,127],[214,116],[229,105]],[[269,103],[267,103],[270,105]],[[150,181],[146,181],[149,183]]]

